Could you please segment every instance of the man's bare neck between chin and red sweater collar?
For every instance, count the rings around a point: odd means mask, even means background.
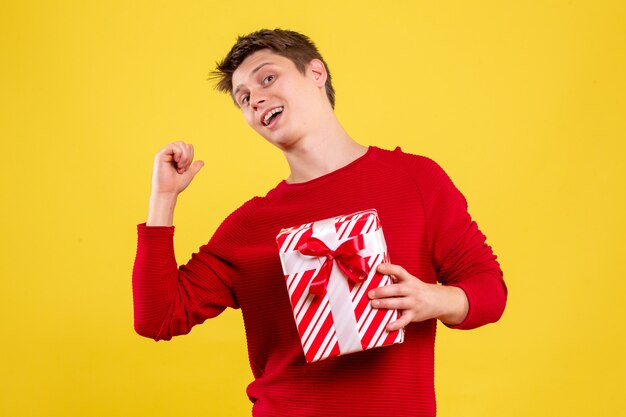
[[[316,132],[283,149],[291,169],[286,181],[310,181],[350,164],[366,152],[367,148],[355,142],[333,114]]]

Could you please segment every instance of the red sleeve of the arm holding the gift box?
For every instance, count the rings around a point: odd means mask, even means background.
[[[423,198],[437,279],[461,288],[469,301],[465,320],[448,327],[473,329],[495,322],[507,298],[500,265],[468,213],[465,197],[439,165],[423,159]]]

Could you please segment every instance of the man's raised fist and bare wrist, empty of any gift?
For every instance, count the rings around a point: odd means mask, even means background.
[[[193,160],[193,146],[174,142],[165,146],[154,157],[152,194],[148,210],[148,226],[171,226],[176,199],[204,166]]]

